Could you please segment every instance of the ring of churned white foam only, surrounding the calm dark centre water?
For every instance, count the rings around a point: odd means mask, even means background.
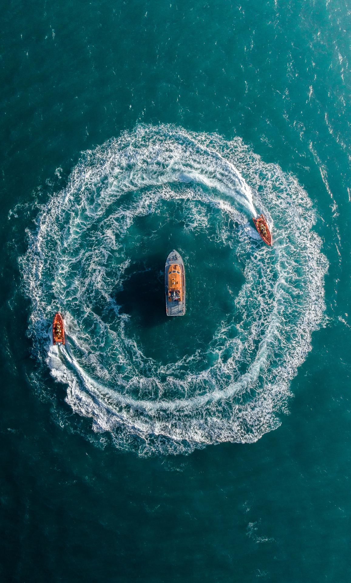
[[[208,346],[216,359],[197,373],[197,354],[171,371],[146,359],[111,296],[130,265],[125,238],[136,217],[176,198],[195,213],[194,230],[207,220],[196,215],[198,205],[239,223],[232,253],[245,263],[233,319],[222,322]],[[255,207],[274,223],[272,250],[251,227]],[[264,164],[240,139],[225,142],[166,125],[126,132],[84,154],[29,234],[20,263],[34,353],[68,384],[72,409],[91,417],[95,431],[110,431],[117,447],[150,455],[256,441],[288,410],[290,381],[324,310],[327,262],[313,224],[310,199],[297,181]],[[223,244],[232,240],[231,229],[224,222]],[[93,310],[97,298],[104,314]],[[65,312],[66,349],[49,346],[58,308]]]

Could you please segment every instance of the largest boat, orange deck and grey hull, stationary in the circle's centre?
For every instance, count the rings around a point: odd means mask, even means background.
[[[183,316],[185,314],[185,271],[183,259],[173,249],[165,265],[166,314]]]

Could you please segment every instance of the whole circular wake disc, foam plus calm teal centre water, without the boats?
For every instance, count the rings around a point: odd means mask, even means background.
[[[252,216],[263,211],[274,246]],[[306,192],[239,138],[137,127],[84,153],[21,259],[36,356],[66,401],[140,455],[253,442],[280,424],[324,310]],[[167,318],[164,262],[185,261]],[[52,346],[52,317],[66,347]]]

